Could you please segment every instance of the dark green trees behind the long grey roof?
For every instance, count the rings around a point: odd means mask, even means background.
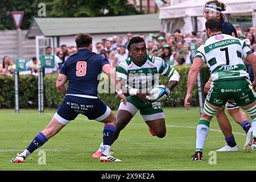
[[[38,16],[42,0],[1,0],[0,30],[14,29],[11,11],[24,11],[21,29],[28,29]],[[141,14],[127,0],[44,0],[46,17],[92,17]]]

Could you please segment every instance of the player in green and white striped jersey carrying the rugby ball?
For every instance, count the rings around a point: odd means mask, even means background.
[[[152,87],[159,85],[159,75],[170,79],[167,88],[171,91],[179,82],[179,73],[160,57],[147,55],[146,43],[139,36],[131,38],[127,49],[130,57],[121,61],[117,68],[117,77],[122,80],[127,103],[124,105],[121,101],[119,105],[113,142],[138,110],[150,128],[150,133],[163,138],[166,135],[166,123],[162,106],[159,102],[151,102],[147,96]],[[93,154],[94,158],[100,156],[101,146]]]

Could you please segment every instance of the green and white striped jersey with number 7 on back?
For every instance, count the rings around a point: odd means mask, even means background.
[[[252,52],[243,40],[218,34],[207,39],[197,49],[195,57],[200,57],[207,63],[213,81],[232,80],[249,78],[242,59]]]

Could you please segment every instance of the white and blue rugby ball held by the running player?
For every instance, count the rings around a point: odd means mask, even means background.
[[[150,90],[150,95],[148,96],[147,99],[152,102],[163,102],[163,101],[166,101],[169,94],[170,94],[170,91],[166,86],[157,85]]]

